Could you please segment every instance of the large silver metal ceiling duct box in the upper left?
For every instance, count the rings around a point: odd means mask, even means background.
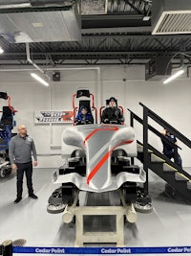
[[[11,43],[81,39],[78,1],[66,7],[1,9],[0,35]]]

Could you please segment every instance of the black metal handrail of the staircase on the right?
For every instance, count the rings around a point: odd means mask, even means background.
[[[129,108],[128,110],[130,111],[130,125],[131,127],[134,127],[134,120],[137,120],[138,123],[140,123],[143,126],[143,169],[146,172],[146,182],[144,184],[144,192],[145,194],[148,194],[148,165],[149,165],[149,157],[148,157],[148,150],[152,150],[151,146],[148,144],[148,130],[153,131],[156,135],[159,136],[160,139],[165,141],[168,145],[174,148],[175,151],[175,163],[171,162],[169,159],[167,160],[170,161],[172,166],[176,168],[182,175],[185,175],[188,177],[188,179],[191,179],[191,175],[187,174],[184,172],[180,166],[177,164],[177,159],[178,159],[178,149],[180,149],[179,146],[176,144],[172,143],[170,140],[168,140],[165,136],[159,132],[156,128],[153,128],[148,124],[148,118],[150,117],[156,123],[158,123],[161,127],[168,129],[175,137],[177,137],[182,143],[184,143],[186,146],[188,146],[191,149],[191,141],[186,138],[183,134],[180,133],[179,130],[176,128],[173,128],[171,125],[169,125],[165,120],[159,117],[154,111],[152,111],[150,108],[147,106],[139,103],[139,105],[143,106],[143,119],[139,118],[138,115],[136,115],[133,111],[131,111]],[[180,149],[181,150],[181,149]],[[164,156],[164,159],[165,156]]]

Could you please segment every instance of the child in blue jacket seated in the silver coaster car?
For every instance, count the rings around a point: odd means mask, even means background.
[[[74,124],[75,125],[94,124],[94,117],[92,113],[88,112],[88,109],[86,106],[80,107],[79,112],[74,119]]]

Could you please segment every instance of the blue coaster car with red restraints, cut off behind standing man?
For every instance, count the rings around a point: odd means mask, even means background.
[[[0,177],[6,177],[11,175],[9,146],[11,137],[15,134],[11,133],[11,129],[15,127],[13,115],[16,110],[11,106],[11,97],[6,92],[0,92],[0,99],[9,101],[8,106],[3,106],[0,120]]]

